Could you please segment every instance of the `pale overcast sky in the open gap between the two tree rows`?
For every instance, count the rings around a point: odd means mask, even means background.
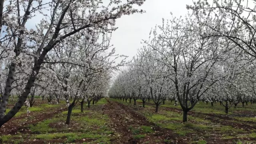
[[[118,29],[112,34],[112,44],[117,54],[129,56],[129,60],[136,55],[142,46],[142,39],[148,40],[151,28],[162,24],[162,18],[170,19],[170,12],[180,17],[188,14],[186,4],[192,5],[192,0],[146,0],[138,7],[146,10],[144,14],[122,16],[116,20]],[[137,7],[136,7],[137,8]]]

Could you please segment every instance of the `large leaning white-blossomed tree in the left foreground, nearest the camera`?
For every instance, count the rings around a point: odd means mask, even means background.
[[[121,4],[120,1],[110,0],[103,3],[101,0],[28,0],[6,2],[6,11],[3,13],[3,32],[1,33],[1,47],[6,49],[11,63],[8,69],[6,85],[0,104],[0,126],[8,122],[24,105],[36,77],[44,66],[44,59],[49,51],[56,46],[62,46],[66,38],[87,30],[114,26],[115,19],[122,15],[129,15],[143,10],[133,9],[134,4],[142,5],[145,0],[128,0]],[[110,6],[112,8],[110,8]],[[50,10],[45,12],[45,10]],[[36,14],[44,18],[37,29],[28,30],[28,20]],[[1,21],[0,21],[1,22]],[[32,56],[33,59],[28,59]],[[26,85],[15,106],[5,114],[8,104],[14,74],[19,64],[26,62],[32,65],[26,69]]]

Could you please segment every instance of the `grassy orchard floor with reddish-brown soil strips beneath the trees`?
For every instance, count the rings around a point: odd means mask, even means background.
[[[12,106],[9,104],[9,108]],[[78,103],[79,104],[79,103]],[[47,104],[36,100],[0,129],[0,144],[256,144],[256,104],[230,108],[219,103],[200,103],[188,112],[182,123],[182,110],[173,103],[159,107],[154,103],[101,99],[80,112],[73,109],[70,125],[64,124],[65,103]]]

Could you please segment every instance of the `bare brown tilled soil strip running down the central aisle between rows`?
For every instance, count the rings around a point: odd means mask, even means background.
[[[174,134],[171,130],[160,128],[154,123],[149,122],[147,118],[128,106],[118,102],[108,100],[108,104],[104,107],[104,114],[110,117],[110,126],[112,130],[120,134],[120,138],[115,139],[113,144],[165,144],[165,140],[170,144],[187,144],[186,140]],[[143,133],[144,138],[136,139],[129,127],[138,128],[140,126],[151,126],[153,133]]]

